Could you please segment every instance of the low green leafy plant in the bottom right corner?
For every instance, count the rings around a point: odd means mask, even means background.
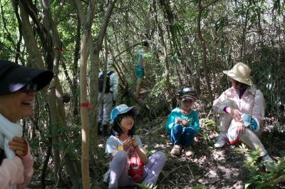
[[[266,172],[262,171],[263,161],[259,160],[259,149],[252,151],[246,160],[245,166],[249,169],[249,180],[244,188],[277,188],[285,181],[285,158],[280,158],[278,163],[266,163]]]

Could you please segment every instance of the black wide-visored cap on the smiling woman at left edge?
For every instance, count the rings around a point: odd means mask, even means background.
[[[52,71],[0,60],[0,95],[19,91],[30,82],[36,84],[37,91],[40,91],[48,85],[52,78]]]

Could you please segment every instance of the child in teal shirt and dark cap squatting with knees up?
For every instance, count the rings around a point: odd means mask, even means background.
[[[172,155],[180,155],[185,148],[187,156],[192,155],[190,145],[199,133],[199,116],[197,111],[192,110],[197,94],[194,88],[183,88],[180,92],[181,106],[173,109],[167,119],[165,130],[170,134],[173,144]]]

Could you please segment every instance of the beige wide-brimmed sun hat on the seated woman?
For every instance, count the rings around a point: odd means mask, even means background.
[[[249,86],[253,86],[254,82],[250,78],[250,68],[247,64],[239,62],[232,67],[229,71],[223,71],[227,76],[233,78],[235,81],[239,81],[240,83],[245,83]]]

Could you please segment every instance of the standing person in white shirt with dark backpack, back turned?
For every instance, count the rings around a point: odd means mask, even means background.
[[[113,60],[107,61],[107,74],[105,83],[105,93],[103,93],[104,74],[99,73],[98,81],[98,134],[108,136],[108,126],[110,124],[110,113],[115,106],[118,96],[118,73],[115,72]]]

